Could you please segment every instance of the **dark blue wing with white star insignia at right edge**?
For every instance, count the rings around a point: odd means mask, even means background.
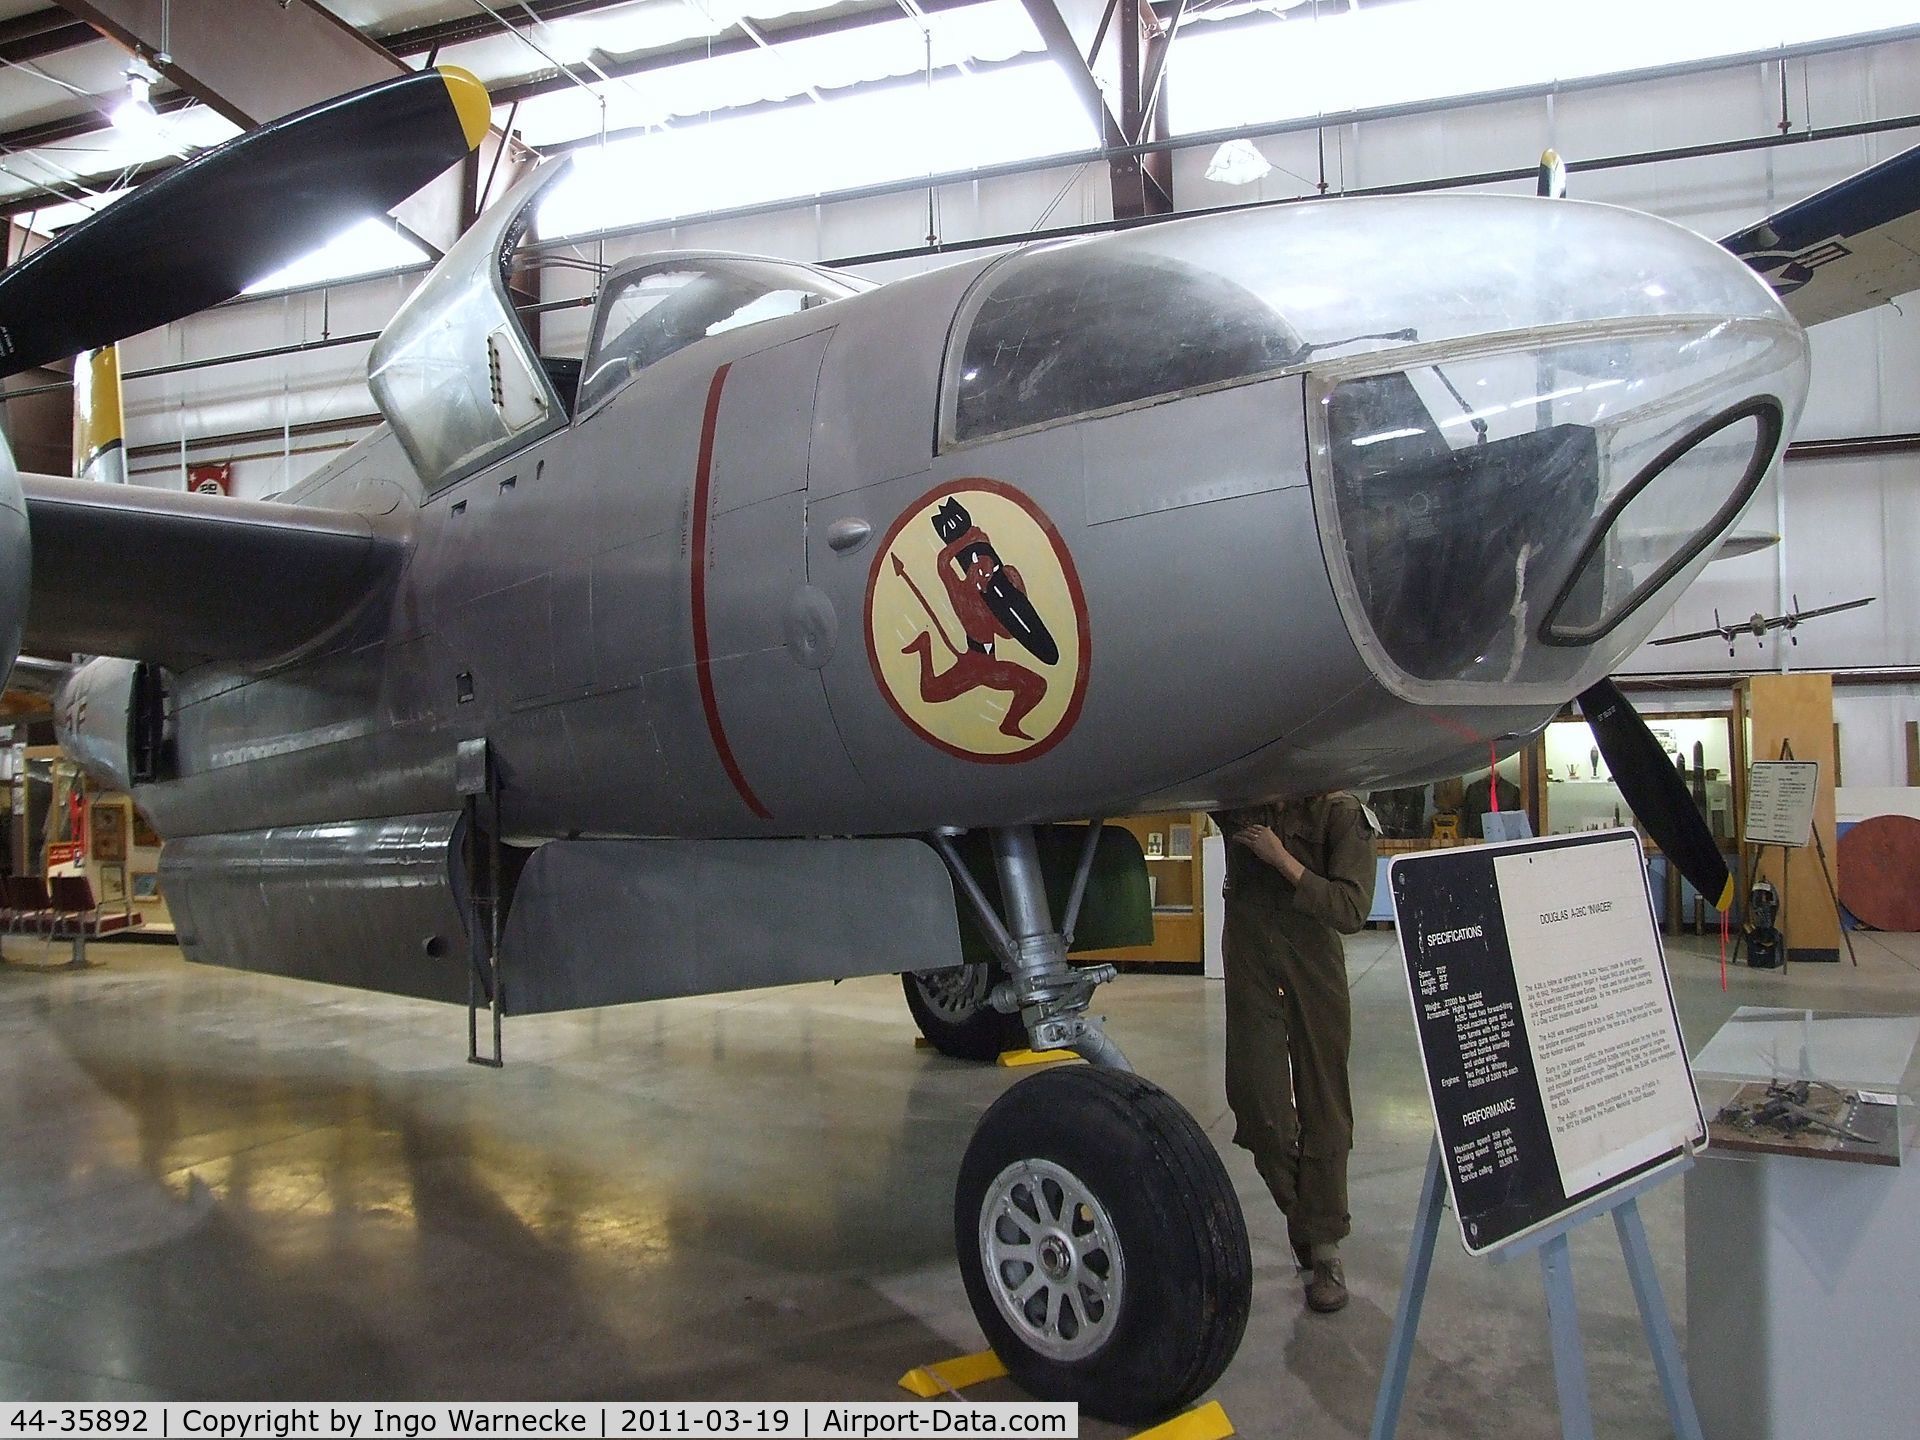
[[[1920,148],[1849,175],[1720,242],[1801,324],[1920,288]]]

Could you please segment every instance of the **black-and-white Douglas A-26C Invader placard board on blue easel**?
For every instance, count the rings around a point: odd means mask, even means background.
[[[1471,1254],[1707,1142],[1634,831],[1402,854],[1388,885]]]

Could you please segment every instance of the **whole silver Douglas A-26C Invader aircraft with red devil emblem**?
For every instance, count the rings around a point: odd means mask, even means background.
[[[10,369],[236,294],[486,123],[424,71],[194,159],[0,276]],[[1722,895],[1605,678],[1799,413],[1755,269],[1824,313],[1912,278],[1830,211],[1749,267],[1601,205],[1329,200],[885,286],[651,255],[553,361],[505,275],[559,173],[440,261],[371,355],[386,424],[278,501],[8,472],[8,659],[111,657],[61,739],[167,837],[194,960],[495,1023],[900,972],[947,1048],[1098,1062],[981,1121],[962,1273],[1037,1394],[1187,1402],[1246,1231],[1068,964],[1139,935],[1139,851],[1058,822],[1459,774],[1580,695]]]

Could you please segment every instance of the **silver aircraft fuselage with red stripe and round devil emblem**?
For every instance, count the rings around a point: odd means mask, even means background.
[[[492,261],[442,271],[472,288]],[[369,516],[405,561],[273,664],[169,676],[167,766],[134,787],[163,835],[444,812],[474,737],[515,841],[900,835],[1457,774],[1645,637],[1807,382],[1805,334],[1738,259],[1567,202],[1196,217],[877,288],[724,255],[628,271],[572,413],[538,419],[530,361],[538,438],[453,465],[396,409],[445,394],[399,367],[445,332],[436,305],[459,319],[461,276],[409,301],[396,328],[428,340],[374,355],[394,428],[284,497]],[[818,294],[662,340],[680,276]],[[657,323],[622,353],[630,313]],[[472,351],[501,415],[511,340]],[[92,662],[60,707],[121,783],[129,676]]]

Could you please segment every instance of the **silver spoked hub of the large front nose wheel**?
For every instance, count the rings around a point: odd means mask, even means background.
[[[1016,1160],[979,1208],[979,1254],[993,1302],[1021,1342],[1085,1359],[1119,1321],[1125,1267],[1100,1198],[1050,1160]]]

